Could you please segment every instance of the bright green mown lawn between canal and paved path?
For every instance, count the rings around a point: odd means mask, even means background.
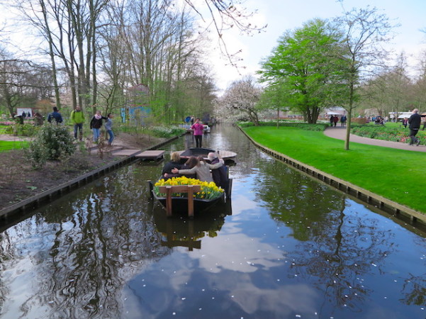
[[[244,128],[260,144],[323,172],[426,213],[426,153],[328,138],[323,132],[270,126]]]

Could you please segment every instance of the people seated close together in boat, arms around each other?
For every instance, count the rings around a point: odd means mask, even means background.
[[[202,156],[191,156],[184,164],[181,164],[179,152],[172,152],[170,161],[162,169],[162,178],[170,179],[182,175],[200,181],[213,181],[222,189],[226,189],[228,186],[228,174],[223,159],[215,152],[209,152],[207,159]]]

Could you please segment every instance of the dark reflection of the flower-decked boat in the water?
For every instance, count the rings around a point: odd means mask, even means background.
[[[218,203],[208,214],[196,220],[186,218],[166,218],[160,210],[154,210],[157,230],[164,235],[162,245],[167,247],[188,247],[188,250],[201,249],[203,237],[215,237],[225,223],[225,216],[232,215],[231,202]]]

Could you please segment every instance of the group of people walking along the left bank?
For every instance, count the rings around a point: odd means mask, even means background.
[[[39,113],[35,113],[36,117]],[[43,116],[39,114],[41,123],[43,124]],[[83,124],[85,121],[84,112],[80,106],[77,106],[70,115],[72,125],[74,125],[74,138],[77,140],[83,140]],[[40,121],[40,120],[39,120]],[[55,123],[57,125],[64,122],[60,111],[56,106],[53,107],[52,113],[47,116],[47,122]],[[108,134],[108,145],[111,145],[114,140],[113,133],[113,114],[108,113],[108,116],[102,116],[101,111],[96,111],[95,115],[90,120],[90,129],[93,130],[93,141],[98,142],[99,136],[101,135],[101,127],[105,123],[106,133]]]

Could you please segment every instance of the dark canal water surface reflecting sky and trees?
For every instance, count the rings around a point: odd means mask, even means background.
[[[181,138],[166,150],[191,146]],[[259,152],[232,202],[165,218],[135,164],[0,233],[1,318],[426,318],[425,234]]]

